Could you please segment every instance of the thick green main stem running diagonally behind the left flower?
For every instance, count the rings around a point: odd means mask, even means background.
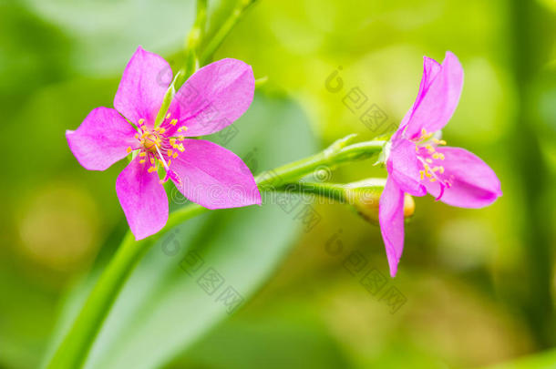
[[[312,157],[266,172],[275,174],[273,176],[266,176],[263,173],[256,179],[260,190],[277,190],[286,183],[302,179],[319,167],[334,167],[352,160],[371,157],[380,152],[385,144],[384,141],[368,141],[344,147],[345,142],[347,140],[337,141],[330,148]],[[299,187],[298,190],[303,190],[303,187]],[[332,192],[328,195],[331,198],[335,196]],[[106,270],[102,272],[95,287],[89,293],[76,321],[46,367],[49,369],[82,367],[102,323],[108,316],[110,307],[118,297],[118,292],[141,257],[149,250],[149,246],[173,227],[207,211],[208,209],[197,204],[190,204],[176,210],[170,214],[166,226],[159,233],[141,241],[135,241],[128,231],[115,256],[109,261]]]

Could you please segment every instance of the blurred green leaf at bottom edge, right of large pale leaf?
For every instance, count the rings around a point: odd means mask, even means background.
[[[354,368],[314,306],[293,304],[283,313],[239,314],[193,345],[170,368]]]

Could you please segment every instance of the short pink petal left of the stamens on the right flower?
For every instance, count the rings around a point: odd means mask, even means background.
[[[427,190],[421,184],[415,144],[407,139],[393,139],[387,162],[388,178],[396,181],[404,192],[424,196]]]

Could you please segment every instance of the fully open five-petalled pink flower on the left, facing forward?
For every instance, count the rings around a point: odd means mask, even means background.
[[[95,108],[77,130],[66,132],[69,148],[85,169],[108,169],[134,153],[116,180],[116,193],[136,240],[166,224],[168,198],[162,183],[168,179],[208,209],[261,203],[242,159],[210,141],[190,138],[217,132],[242,116],[254,93],[252,68],[235,59],[202,67],[155,127],[170,80],[170,65],[139,46],[119,82],[116,109]],[[166,173],[162,180],[159,169]]]

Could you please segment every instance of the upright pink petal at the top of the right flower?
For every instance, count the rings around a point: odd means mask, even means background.
[[[418,138],[423,128],[427,132],[443,128],[458,107],[463,87],[463,68],[458,57],[448,51],[440,67],[433,62],[425,58],[417,99],[407,118],[404,118],[407,123],[406,138]]]

